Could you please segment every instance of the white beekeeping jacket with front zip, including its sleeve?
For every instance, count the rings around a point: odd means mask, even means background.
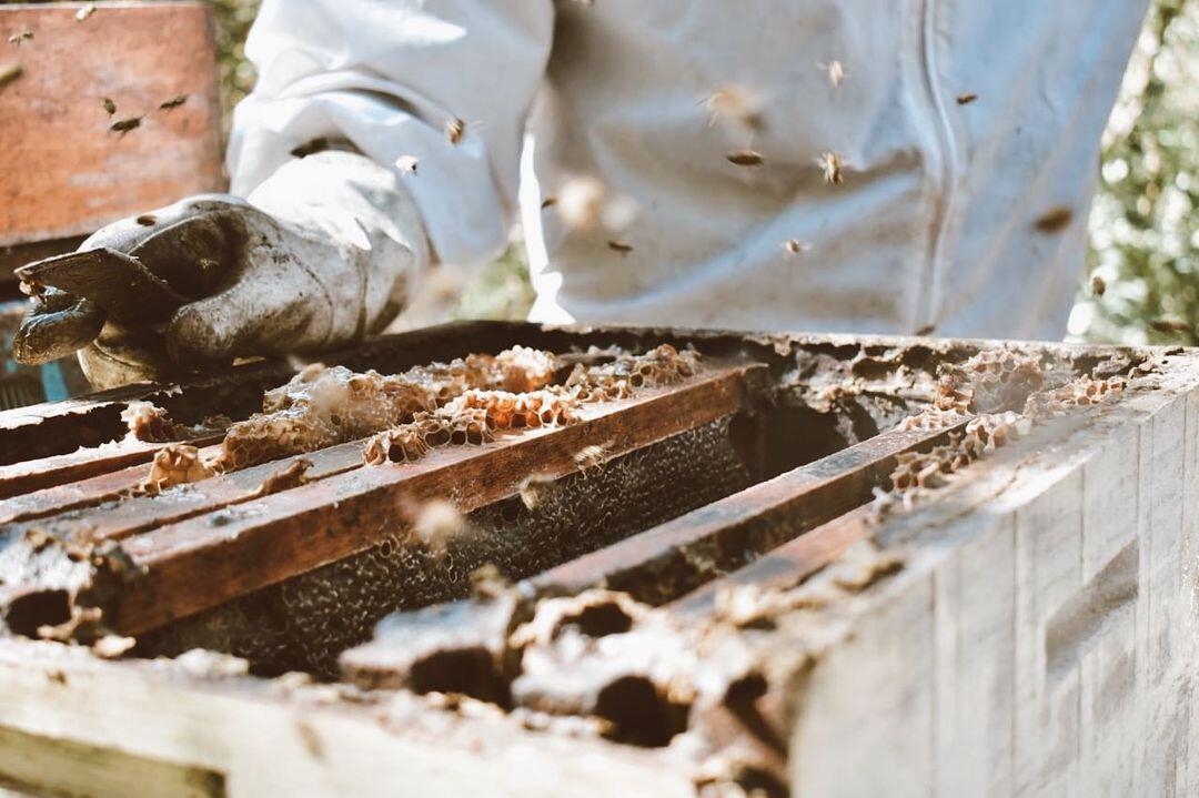
[[[429,258],[476,264],[529,132],[536,320],[1060,338],[1146,2],[266,0],[233,191],[319,137],[408,156]]]

